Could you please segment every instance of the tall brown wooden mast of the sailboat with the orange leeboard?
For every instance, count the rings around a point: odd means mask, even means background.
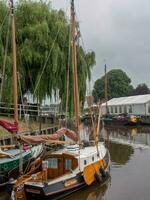
[[[72,66],[73,66],[73,93],[74,93],[74,113],[75,113],[75,126],[79,130],[79,91],[78,91],[78,76],[77,76],[77,53],[76,53],[76,22],[75,22],[75,9],[74,0],[71,0],[71,24],[72,24]]]

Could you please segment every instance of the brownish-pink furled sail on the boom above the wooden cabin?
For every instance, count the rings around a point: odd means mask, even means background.
[[[66,135],[73,141],[77,142],[78,141],[78,135],[67,128],[61,128],[58,131],[56,131],[54,134],[51,135],[36,135],[36,136],[19,136],[19,140],[22,142],[31,144],[31,143],[42,143],[42,142],[48,142],[49,140],[57,140],[63,135]]]

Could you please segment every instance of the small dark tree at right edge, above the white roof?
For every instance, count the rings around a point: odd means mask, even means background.
[[[145,83],[140,83],[137,85],[133,91],[131,91],[130,95],[141,95],[141,94],[149,94],[150,89]]]

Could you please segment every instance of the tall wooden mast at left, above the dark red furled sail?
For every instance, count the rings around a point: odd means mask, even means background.
[[[13,0],[10,0],[11,6],[11,27],[12,27],[12,60],[13,60],[13,102],[14,102],[14,120],[18,123],[18,89],[17,89],[17,67],[16,67],[16,30]]]

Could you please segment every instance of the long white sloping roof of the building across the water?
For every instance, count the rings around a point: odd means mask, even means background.
[[[136,95],[129,97],[119,97],[113,98],[107,102],[108,106],[117,106],[117,105],[130,105],[130,104],[144,104],[150,101],[150,94],[146,95]],[[102,104],[105,106],[105,103]]]

